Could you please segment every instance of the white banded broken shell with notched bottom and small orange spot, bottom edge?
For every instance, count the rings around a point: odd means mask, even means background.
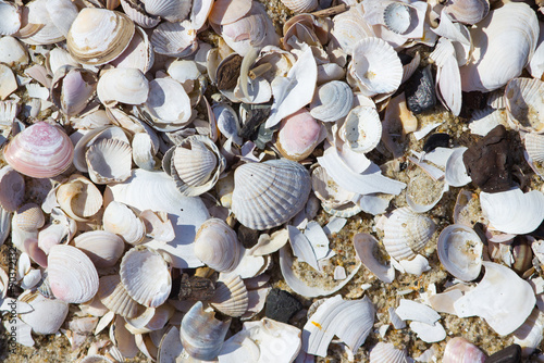
[[[374,311],[368,297],[343,300],[338,295],[326,299],[304,326],[302,349],[309,354],[326,356],[333,336],[337,336],[356,352],[372,329]]]

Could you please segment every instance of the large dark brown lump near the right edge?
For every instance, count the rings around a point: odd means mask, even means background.
[[[462,155],[467,173],[485,192],[506,191],[514,186],[508,133],[498,125]]]

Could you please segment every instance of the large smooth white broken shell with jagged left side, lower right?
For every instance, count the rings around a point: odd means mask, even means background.
[[[531,285],[510,268],[486,261],[482,264],[485,267],[483,279],[455,301],[454,309],[459,317],[477,315],[484,318],[493,330],[505,336],[523,324],[536,299]]]

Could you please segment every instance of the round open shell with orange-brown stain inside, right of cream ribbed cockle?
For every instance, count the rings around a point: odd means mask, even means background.
[[[472,228],[447,226],[438,236],[437,250],[442,264],[455,277],[471,281],[480,275],[483,243]]]

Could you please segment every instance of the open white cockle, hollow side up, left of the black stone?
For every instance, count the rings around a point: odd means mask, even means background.
[[[368,97],[394,92],[403,79],[403,64],[397,52],[385,40],[374,37],[355,45],[348,71]]]

